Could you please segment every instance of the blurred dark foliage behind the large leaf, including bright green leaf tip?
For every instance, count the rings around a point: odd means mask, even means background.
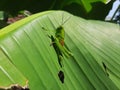
[[[115,0],[0,0],[0,11],[4,20],[0,28],[6,26],[8,17],[15,17],[21,10],[32,14],[46,10],[65,10],[85,19],[104,20]]]

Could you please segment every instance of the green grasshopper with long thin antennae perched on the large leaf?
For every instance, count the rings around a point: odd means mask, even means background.
[[[69,18],[68,18],[69,19]],[[68,20],[67,19],[67,20]],[[66,22],[66,21],[65,21]],[[65,23],[64,22],[64,23]],[[63,24],[64,24],[63,23]],[[62,25],[63,25],[62,24]],[[57,57],[58,57],[58,62],[59,62],[59,65],[62,67],[62,57],[63,55],[65,57],[70,57],[70,56],[73,56],[72,53],[67,49],[65,48],[64,46],[64,38],[65,38],[65,30],[64,28],[61,26],[59,26],[55,31],[55,36],[53,35],[50,35],[49,38],[51,39],[52,41],[52,45],[53,45],[53,48],[57,54]],[[43,28],[44,29],[44,28]]]

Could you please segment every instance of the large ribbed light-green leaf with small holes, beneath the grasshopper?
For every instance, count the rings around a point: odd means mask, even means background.
[[[64,57],[61,68],[48,35],[54,35],[68,17],[63,25],[65,46],[73,57]],[[29,16],[0,31],[0,86],[24,86],[28,80],[31,90],[118,90],[119,36],[115,24],[84,20],[64,11]],[[58,77],[60,70],[64,83]]]

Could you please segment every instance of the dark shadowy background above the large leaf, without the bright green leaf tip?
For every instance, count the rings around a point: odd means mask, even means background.
[[[6,11],[13,16],[20,10],[28,10],[31,13],[37,13],[46,10],[66,10],[74,15],[86,19],[104,20],[109,10],[112,8],[112,0],[108,4],[102,2],[91,3],[92,10],[86,12],[84,7],[77,3],[64,5],[64,0],[0,0],[0,10]],[[61,7],[62,6],[62,7]]]

